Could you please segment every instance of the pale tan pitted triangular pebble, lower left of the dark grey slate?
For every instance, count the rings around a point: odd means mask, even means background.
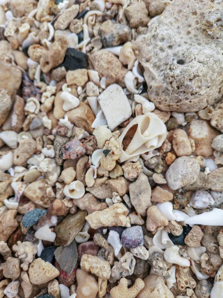
[[[30,264],[28,274],[32,284],[41,285],[56,278],[59,271],[51,263],[38,258]]]

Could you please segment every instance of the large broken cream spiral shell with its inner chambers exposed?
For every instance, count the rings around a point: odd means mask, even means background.
[[[137,130],[128,145],[127,149],[122,149],[122,141],[127,132],[137,125]],[[167,127],[163,121],[153,113],[135,117],[123,130],[117,142],[121,148],[120,162],[133,156],[149,152],[161,147],[167,137]]]

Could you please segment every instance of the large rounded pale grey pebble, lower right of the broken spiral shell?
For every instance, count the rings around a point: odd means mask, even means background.
[[[176,158],[166,172],[168,187],[175,190],[194,183],[199,171],[200,165],[196,159],[188,156]]]

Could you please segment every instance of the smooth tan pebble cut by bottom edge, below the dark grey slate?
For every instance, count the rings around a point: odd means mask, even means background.
[[[98,283],[96,279],[84,270],[77,269],[77,290],[78,298],[96,298],[98,293]]]

